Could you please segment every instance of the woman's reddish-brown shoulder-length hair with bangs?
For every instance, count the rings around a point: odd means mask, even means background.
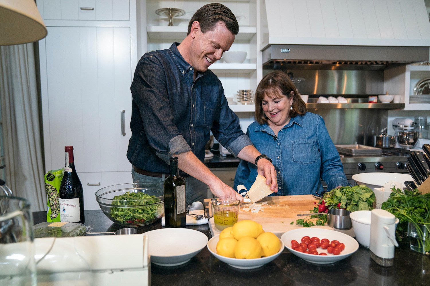
[[[279,93],[287,98],[293,97],[293,109],[290,111],[290,117],[306,113],[306,103],[299,96],[298,90],[290,77],[283,71],[270,72],[260,81],[255,91],[255,118],[258,123],[264,124],[267,122],[267,117],[261,105],[264,96],[267,95],[270,98],[275,98],[278,97]]]

